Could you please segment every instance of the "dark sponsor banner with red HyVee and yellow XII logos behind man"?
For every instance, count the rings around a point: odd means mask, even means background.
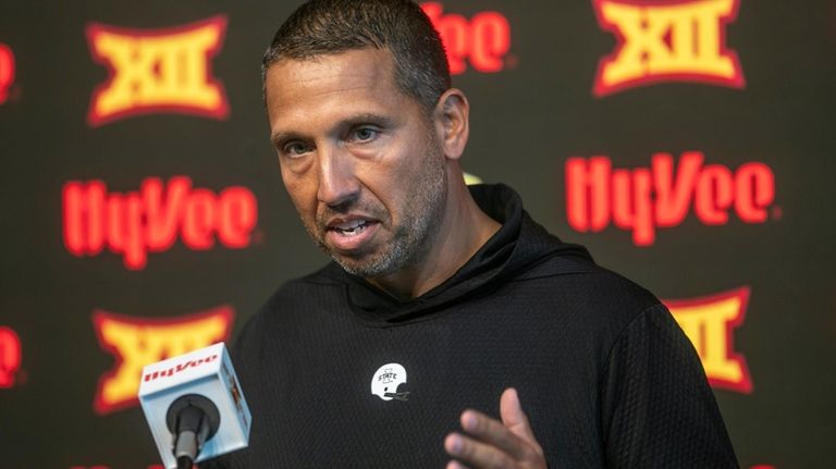
[[[0,467],[158,468],[142,367],[327,261],[261,102],[298,3],[0,7]],[[741,467],[833,467],[836,3],[422,7],[466,171],[664,299]]]

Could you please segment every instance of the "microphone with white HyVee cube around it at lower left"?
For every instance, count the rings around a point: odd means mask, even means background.
[[[223,343],[146,366],[138,397],[165,469],[249,442],[253,418]]]

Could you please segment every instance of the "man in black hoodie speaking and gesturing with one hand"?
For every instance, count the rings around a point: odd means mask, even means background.
[[[250,445],[216,464],[737,467],[659,300],[508,187],[464,184],[468,101],[417,5],[314,0],[262,71],[282,178],[334,262],[237,338]]]

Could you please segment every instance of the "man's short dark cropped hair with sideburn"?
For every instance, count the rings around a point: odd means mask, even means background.
[[[282,24],[261,61],[305,60],[365,48],[385,49],[395,83],[428,112],[450,89],[444,46],[430,18],[409,0],[310,0]]]

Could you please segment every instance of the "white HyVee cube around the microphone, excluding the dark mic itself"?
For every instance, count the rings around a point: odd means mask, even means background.
[[[223,343],[146,366],[139,383],[139,404],[167,469],[176,469],[175,435],[167,424],[171,404],[181,396],[197,394],[219,410],[217,433],[200,448],[195,462],[247,446],[253,418],[241,392]]]

